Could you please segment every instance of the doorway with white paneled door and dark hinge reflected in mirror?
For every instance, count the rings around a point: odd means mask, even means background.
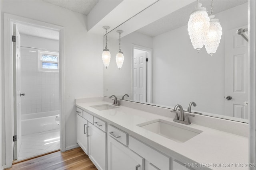
[[[152,49],[133,45],[132,49],[133,101],[152,102]]]

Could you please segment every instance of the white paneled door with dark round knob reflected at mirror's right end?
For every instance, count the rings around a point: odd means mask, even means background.
[[[226,32],[225,115],[248,119],[249,63],[248,43],[236,33]]]

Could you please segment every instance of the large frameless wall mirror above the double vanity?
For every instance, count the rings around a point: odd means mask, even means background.
[[[209,14],[211,0],[200,2]],[[180,104],[185,110],[195,102],[191,112],[248,122],[248,42],[236,33],[248,28],[248,1],[213,3],[222,37],[212,57],[205,47],[198,53],[188,35],[195,1],[121,38],[124,64],[118,69],[112,54],[104,68],[104,96],[128,94],[124,100],[167,108]],[[119,40],[109,43],[118,49]]]

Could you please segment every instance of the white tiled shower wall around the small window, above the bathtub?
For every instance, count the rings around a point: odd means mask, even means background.
[[[38,53],[30,50],[21,48],[21,113],[59,110],[59,72],[39,72]]]

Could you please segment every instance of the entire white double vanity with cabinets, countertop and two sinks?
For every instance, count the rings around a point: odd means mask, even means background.
[[[248,169],[247,137],[192,119],[190,125],[178,123],[175,113],[166,117],[143,111],[147,105],[133,105],[76,99],[77,143],[99,170]]]

